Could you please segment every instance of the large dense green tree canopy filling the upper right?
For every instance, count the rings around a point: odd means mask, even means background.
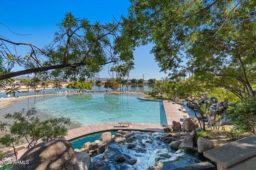
[[[239,98],[254,97],[255,0],[131,0],[123,35],[134,46],[154,43],[151,53],[171,78],[194,76]],[[181,66],[188,59],[187,66]]]

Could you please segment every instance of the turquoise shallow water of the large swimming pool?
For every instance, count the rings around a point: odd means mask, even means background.
[[[69,117],[82,126],[113,122],[167,124],[162,102],[138,97],[123,93],[63,95],[37,102],[35,107],[38,113]]]

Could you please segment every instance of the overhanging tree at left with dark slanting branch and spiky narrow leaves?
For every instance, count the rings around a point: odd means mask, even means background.
[[[72,77],[94,77],[108,63],[133,60],[133,48],[127,37],[118,36],[120,21],[101,24],[71,13],[58,24],[54,41],[39,49],[29,43],[16,43],[0,37],[0,81],[23,74],[46,72],[49,78],[68,80]],[[9,45],[13,45],[11,49]],[[19,55],[16,45],[30,47],[26,57]],[[16,65],[24,69],[13,72]]]

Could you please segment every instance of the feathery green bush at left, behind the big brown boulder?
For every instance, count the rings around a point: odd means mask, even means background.
[[[0,130],[6,133],[0,137],[0,149],[14,148],[24,141],[28,143],[29,149],[38,140],[63,139],[67,133],[66,126],[70,125],[70,119],[66,117],[40,120],[35,108],[7,113],[4,118],[8,121],[0,121]]]

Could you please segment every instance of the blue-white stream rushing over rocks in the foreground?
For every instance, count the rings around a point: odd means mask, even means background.
[[[92,160],[88,169],[170,170],[202,162],[199,157],[184,150],[170,149],[168,144],[161,141],[165,135],[160,132],[118,131],[107,143],[101,141],[105,151],[97,155],[91,154]],[[101,147],[101,144],[99,145]],[[92,153],[91,150],[87,152],[89,155]]]

